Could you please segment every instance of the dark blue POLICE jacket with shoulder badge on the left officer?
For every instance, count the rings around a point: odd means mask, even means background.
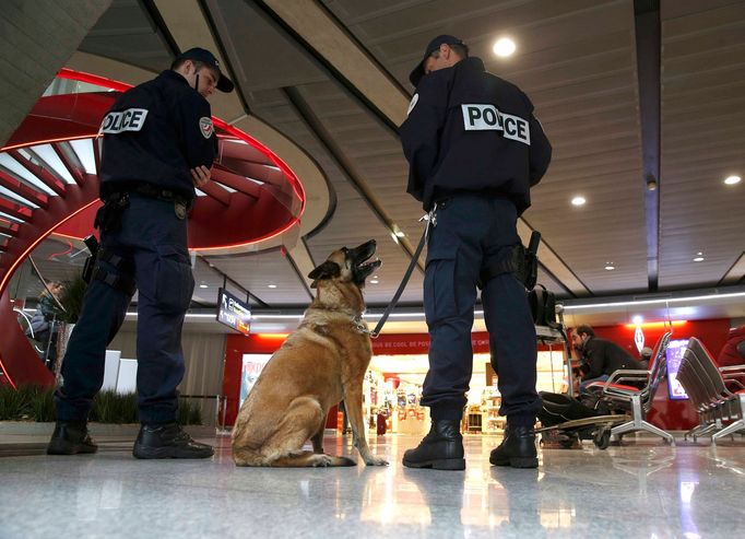
[[[210,104],[172,70],[120,95],[102,131],[102,198],[122,183],[145,181],[191,199],[190,169],[211,167],[215,157]]]

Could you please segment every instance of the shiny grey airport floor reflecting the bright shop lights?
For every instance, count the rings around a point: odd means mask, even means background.
[[[372,438],[387,468],[236,468],[228,437],[211,460],[138,461],[130,442],[99,442],[93,456],[25,444],[0,458],[0,538],[735,537],[745,489],[741,437],[545,449],[517,470],[489,466],[498,438],[468,436],[460,472],[403,468],[418,442],[404,435]],[[355,455],[348,436],[326,449]]]

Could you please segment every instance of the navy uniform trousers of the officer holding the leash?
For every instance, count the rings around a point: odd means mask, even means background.
[[[473,367],[471,330],[481,271],[507,260],[520,242],[517,210],[506,198],[459,194],[442,200],[430,229],[424,279],[429,371],[422,391],[433,419],[460,419]],[[482,303],[492,365],[501,394],[499,413],[533,425],[541,409],[535,390],[536,337],[525,289],[515,274],[484,284]]]

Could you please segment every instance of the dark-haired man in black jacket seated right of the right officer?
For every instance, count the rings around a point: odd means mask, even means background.
[[[581,347],[583,376],[579,386],[580,391],[586,390],[593,382],[607,380],[614,372],[620,368],[646,371],[618,344],[595,337],[590,326],[578,326],[572,332],[571,340],[576,347]]]

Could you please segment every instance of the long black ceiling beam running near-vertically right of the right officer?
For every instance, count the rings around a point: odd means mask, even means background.
[[[660,0],[635,0],[634,16],[641,122],[642,185],[647,224],[649,291],[658,290],[660,273]]]

